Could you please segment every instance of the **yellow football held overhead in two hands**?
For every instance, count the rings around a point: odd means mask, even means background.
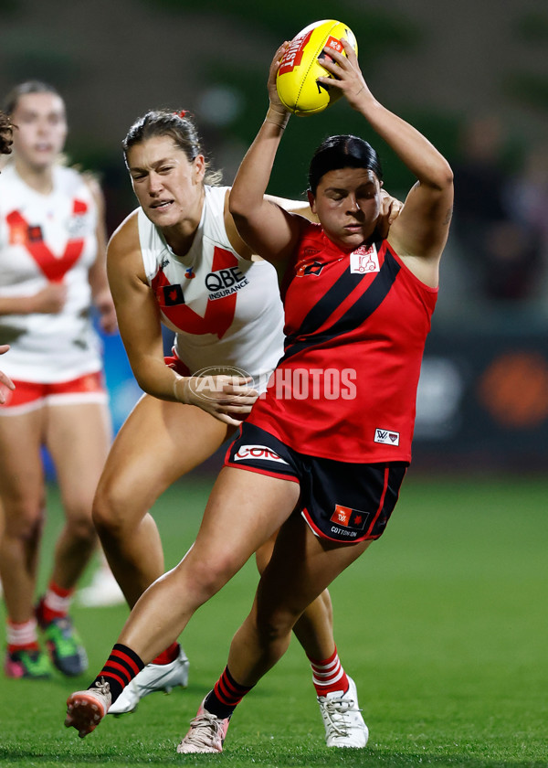
[[[348,40],[357,56],[358,44],[353,31],[333,19],[315,21],[291,40],[279,65],[276,87],[281,103],[293,114],[322,112],[341,97],[337,88],[317,82],[321,77],[332,78],[318,57],[323,48],[332,48],[344,55],[341,37]]]

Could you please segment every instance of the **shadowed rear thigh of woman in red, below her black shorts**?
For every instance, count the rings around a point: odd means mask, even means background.
[[[275,613],[298,617],[370,543],[320,539],[300,515],[292,515],[279,529],[259,584],[259,617]]]

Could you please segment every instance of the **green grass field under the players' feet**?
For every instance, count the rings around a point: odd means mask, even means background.
[[[168,566],[194,539],[208,488],[209,481],[190,478],[155,508]],[[250,562],[186,630],[189,688],[153,694],[135,714],[107,717],[84,740],[63,727],[64,701],[100,669],[126,611],[75,608],[90,675],[2,678],[0,766],[545,768],[547,497],[540,478],[407,477],[385,537],[331,590],[339,653],[370,729],[363,751],[325,747],[310,667],[293,642],[237,709],[223,755],[175,753],[248,613],[257,582]],[[55,488],[49,509],[45,552],[60,522]]]

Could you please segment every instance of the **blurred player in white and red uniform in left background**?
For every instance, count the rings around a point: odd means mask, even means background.
[[[94,179],[59,162],[67,118],[53,87],[16,86],[5,112],[16,126],[14,156],[0,176],[0,343],[11,347],[5,371],[16,384],[4,390],[0,406],[5,674],[49,677],[51,659],[72,676],[87,667],[87,658],[68,607],[96,547],[91,503],[111,443],[91,318],[95,307],[106,332],[116,327],[103,203]],[[65,526],[47,591],[35,603],[46,501],[43,447],[57,472]]]

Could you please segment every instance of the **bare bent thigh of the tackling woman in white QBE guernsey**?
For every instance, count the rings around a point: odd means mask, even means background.
[[[215,453],[230,432],[199,408],[144,395],[112,444],[98,488],[100,507],[131,503],[135,516],[142,517],[166,488]]]

